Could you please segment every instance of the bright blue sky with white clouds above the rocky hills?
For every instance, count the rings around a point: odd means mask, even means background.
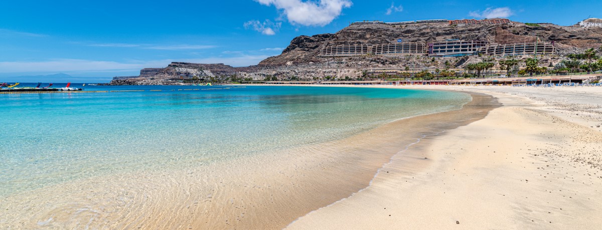
[[[107,82],[172,61],[257,64],[298,35],[350,22],[465,19],[573,25],[602,17],[602,1],[3,1],[0,82],[66,73],[52,82]]]

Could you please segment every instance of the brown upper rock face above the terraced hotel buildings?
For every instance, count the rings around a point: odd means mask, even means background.
[[[350,25],[335,34],[312,37],[300,36],[291,41],[281,55],[259,62],[259,66],[282,66],[325,62],[317,53],[330,45],[358,45],[396,43],[397,39],[411,42],[433,42],[446,39],[485,40],[489,43],[524,43],[554,41],[560,44],[560,55],[602,46],[602,28],[577,28],[546,24],[527,26],[513,22],[509,25],[447,25],[447,23],[415,23],[409,25]]]

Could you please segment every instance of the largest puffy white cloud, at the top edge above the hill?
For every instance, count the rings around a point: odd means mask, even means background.
[[[291,24],[304,26],[324,26],[337,18],[343,8],[353,4],[349,0],[255,0],[262,5],[274,5],[282,10]]]

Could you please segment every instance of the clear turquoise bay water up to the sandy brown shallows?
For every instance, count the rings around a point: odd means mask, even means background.
[[[0,198],[101,175],[203,167],[340,139],[470,100],[457,92],[377,88],[84,88],[144,91],[0,95]]]

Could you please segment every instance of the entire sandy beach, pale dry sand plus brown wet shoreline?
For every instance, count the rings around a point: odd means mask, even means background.
[[[15,193],[0,202],[0,226],[595,229],[602,223],[600,88],[340,87],[457,91],[472,100],[462,109],[326,142],[211,163],[170,159],[178,167]]]

